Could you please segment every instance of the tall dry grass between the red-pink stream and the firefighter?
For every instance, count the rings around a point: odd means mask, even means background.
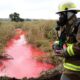
[[[23,24],[22,29],[27,31],[26,39],[29,43],[37,46],[45,52],[51,51],[50,41],[56,37],[54,28],[56,26],[53,20],[30,21]]]

